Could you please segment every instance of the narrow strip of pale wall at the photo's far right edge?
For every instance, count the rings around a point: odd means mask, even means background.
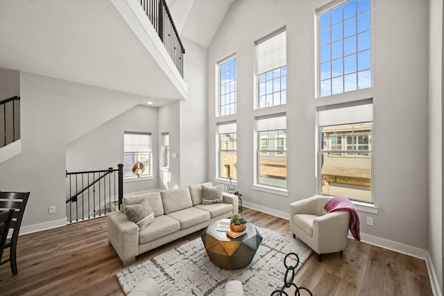
[[[443,0],[429,1],[429,253],[443,290]]]

